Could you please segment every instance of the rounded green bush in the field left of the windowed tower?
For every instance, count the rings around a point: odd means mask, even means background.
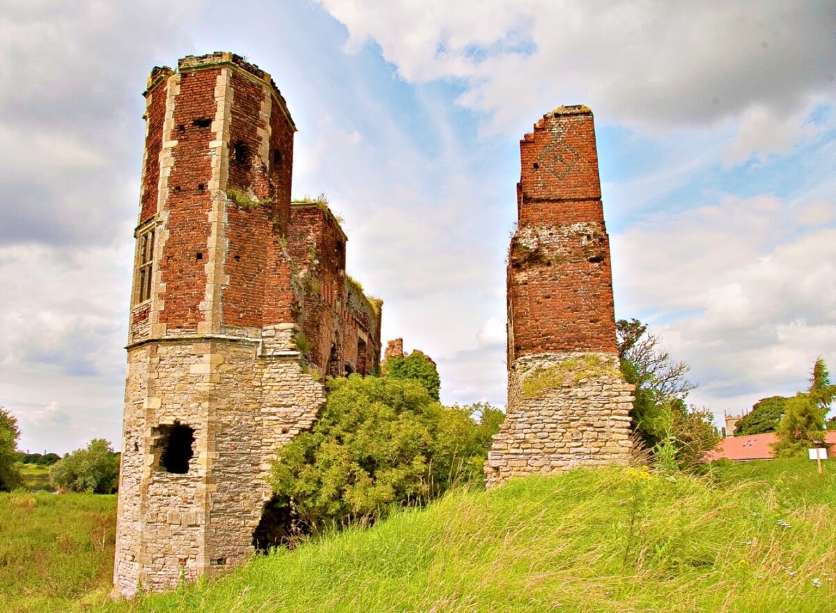
[[[74,492],[114,493],[119,486],[120,456],[110,442],[94,438],[85,449],[76,449],[49,468],[49,479]]]

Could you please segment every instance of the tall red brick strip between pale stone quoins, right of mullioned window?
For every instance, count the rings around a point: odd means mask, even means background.
[[[207,212],[212,208],[209,142],[215,135],[211,126],[194,125],[194,121],[215,118],[219,73],[220,69],[208,69],[181,74],[180,94],[174,102],[172,138],[177,145],[172,151],[174,167],[168,180],[171,234],[160,262],[161,280],[166,284],[166,306],[160,321],[169,329],[196,329],[203,318],[198,305],[206,292],[206,245],[210,232]]]

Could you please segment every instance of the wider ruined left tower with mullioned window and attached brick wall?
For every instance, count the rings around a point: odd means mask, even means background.
[[[345,274],[324,202],[291,202],[293,133],[237,55],[155,68],[130,308],[115,594],[235,564],[270,460],[310,427],[325,373],[380,360],[380,306]]]

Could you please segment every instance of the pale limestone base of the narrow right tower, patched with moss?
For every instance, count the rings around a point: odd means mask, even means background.
[[[633,389],[617,355],[517,359],[509,371],[507,416],[485,463],[487,487],[579,466],[625,465]]]

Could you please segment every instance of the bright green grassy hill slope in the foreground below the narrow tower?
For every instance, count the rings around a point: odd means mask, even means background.
[[[836,609],[834,574],[836,477],[818,478],[813,462],[709,478],[579,470],[451,493],[220,580],[106,608],[824,611]]]

